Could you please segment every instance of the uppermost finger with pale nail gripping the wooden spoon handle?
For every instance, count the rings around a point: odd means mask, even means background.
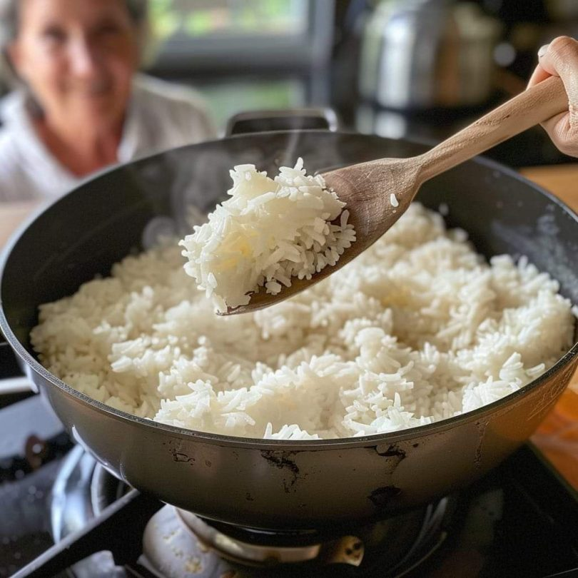
[[[539,58],[539,66],[562,78],[568,94],[570,121],[578,121],[578,42],[568,36],[558,36]]]

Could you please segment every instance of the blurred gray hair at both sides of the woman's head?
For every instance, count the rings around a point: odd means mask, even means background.
[[[148,41],[148,0],[123,0],[137,29],[141,61]],[[0,0],[0,77],[14,85],[18,78],[11,64],[8,47],[18,36],[21,0]]]

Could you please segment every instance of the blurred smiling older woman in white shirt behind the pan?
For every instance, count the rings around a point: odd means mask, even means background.
[[[17,88],[0,103],[0,202],[62,195],[94,171],[213,137],[188,88],[136,73],[146,0],[0,0]]]

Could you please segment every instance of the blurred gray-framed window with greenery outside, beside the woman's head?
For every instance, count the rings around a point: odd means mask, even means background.
[[[328,101],[333,0],[149,0],[151,73],[192,83],[218,126],[240,111]]]

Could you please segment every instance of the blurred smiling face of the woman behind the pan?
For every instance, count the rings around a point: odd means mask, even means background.
[[[123,0],[20,1],[10,55],[46,118],[79,130],[123,118],[138,62]]]

